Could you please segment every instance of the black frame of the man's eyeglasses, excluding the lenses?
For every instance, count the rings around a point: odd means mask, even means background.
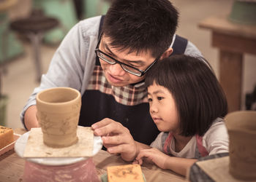
[[[121,61],[116,60],[115,58],[111,57],[110,55],[106,54],[105,52],[102,52],[101,50],[99,50],[99,43],[100,43],[101,39],[102,39],[102,33],[100,33],[100,35],[99,35],[99,40],[98,40],[98,43],[97,43],[97,47],[96,47],[95,50],[94,50],[95,53],[96,53],[96,55],[97,55],[97,57],[98,57],[99,59],[104,60],[105,62],[107,62],[107,63],[109,63],[109,64],[111,64],[111,65],[114,65],[114,64],[118,63],[124,71],[127,71],[129,74],[133,74],[133,75],[135,75],[135,76],[141,77],[141,76],[143,76],[144,74],[146,74],[146,72],[147,72],[152,66],[154,66],[154,64],[157,63],[157,60],[159,60],[159,58],[161,57],[161,55],[160,55],[157,59],[155,59],[155,60],[153,61],[153,63],[151,63],[151,64],[148,66],[148,68],[146,68],[146,69],[143,71],[143,70],[140,70],[140,69],[135,68],[135,67],[133,67],[133,66],[129,66],[129,65],[127,65],[126,63],[121,63]],[[108,58],[111,58],[112,60],[115,60],[115,63],[110,63],[108,60],[106,60],[106,59],[104,59],[104,58],[100,58],[99,55],[97,54],[97,52],[100,52],[100,53],[102,53],[103,55],[106,55]],[[139,71],[140,74],[136,74],[136,73],[133,73],[132,71],[126,70],[122,65],[127,66],[127,67],[132,68],[132,69],[135,69],[135,70]]]

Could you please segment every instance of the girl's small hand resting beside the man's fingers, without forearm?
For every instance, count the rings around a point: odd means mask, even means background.
[[[157,165],[158,167],[164,170],[167,169],[167,167],[165,167],[165,163],[169,156],[167,154],[162,153],[162,151],[159,151],[158,149],[155,148],[143,149],[140,151],[140,153],[136,157],[136,161],[133,163],[142,165],[143,157],[146,158],[149,162],[154,162],[154,164]]]

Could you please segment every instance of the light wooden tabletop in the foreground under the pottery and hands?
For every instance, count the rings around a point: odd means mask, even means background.
[[[19,132],[20,133],[20,132]],[[97,155],[93,157],[94,164],[97,168],[98,175],[105,174],[107,167],[111,165],[127,165],[129,162],[124,162],[120,156],[111,155],[107,151],[99,151]],[[23,181],[23,168],[25,165],[25,159],[18,157],[15,151],[12,149],[7,153],[0,156],[0,182],[12,182]],[[156,165],[143,165],[143,174],[146,177],[147,182],[153,181],[177,181],[184,182],[186,179],[170,170],[161,170]]]

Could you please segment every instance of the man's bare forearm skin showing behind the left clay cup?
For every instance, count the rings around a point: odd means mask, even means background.
[[[32,127],[39,127],[37,121],[37,106],[30,106],[24,114],[24,124],[28,130]]]

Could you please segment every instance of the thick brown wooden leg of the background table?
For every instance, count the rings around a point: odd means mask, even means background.
[[[228,111],[241,109],[243,54],[220,50],[219,82],[227,96]]]

